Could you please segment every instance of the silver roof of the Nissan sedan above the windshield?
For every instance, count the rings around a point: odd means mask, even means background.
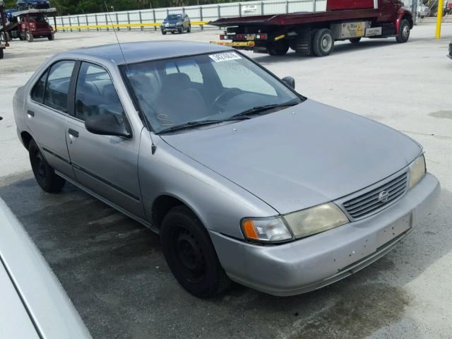
[[[122,50],[122,52],[121,52]],[[151,42],[126,42],[121,44],[105,44],[97,47],[75,49],[71,52],[59,54],[64,57],[102,57],[110,59],[118,65],[135,64],[143,61],[153,61],[172,57],[185,57],[194,54],[204,54],[232,50],[220,44],[208,44],[206,42],[188,41],[151,41]],[[124,57],[123,57],[124,53]],[[124,58],[126,62],[124,62]]]

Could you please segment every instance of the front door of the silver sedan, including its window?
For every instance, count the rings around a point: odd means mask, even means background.
[[[141,131],[131,138],[100,136],[85,129],[85,119],[114,114],[127,121],[109,73],[82,62],[75,88],[73,117],[68,118],[66,140],[77,181],[94,194],[143,218],[138,184],[138,148]]]

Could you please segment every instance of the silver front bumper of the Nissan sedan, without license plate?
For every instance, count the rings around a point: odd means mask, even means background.
[[[210,237],[232,280],[270,295],[298,295],[343,279],[391,251],[432,213],[440,191],[436,177],[427,173],[380,213],[287,244],[258,246],[213,231]]]

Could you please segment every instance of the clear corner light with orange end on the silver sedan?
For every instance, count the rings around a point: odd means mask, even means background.
[[[242,220],[244,237],[257,242],[285,242],[293,239],[280,217],[245,218]]]

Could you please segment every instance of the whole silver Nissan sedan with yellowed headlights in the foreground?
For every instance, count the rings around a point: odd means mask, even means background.
[[[403,133],[309,100],[230,47],[121,47],[46,61],[14,96],[18,136],[44,191],[69,181],[160,233],[193,295],[230,279],[315,290],[436,205],[439,182]]]

